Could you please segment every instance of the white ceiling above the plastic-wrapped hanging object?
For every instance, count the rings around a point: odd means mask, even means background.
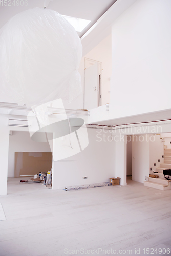
[[[117,0],[28,0],[27,6],[14,6],[12,4],[11,6],[2,6],[2,3],[4,3],[4,0],[2,0],[0,7],[0,28],[17,13],[34,7],[44,8],[44,3],[46,3],[47,9],[52,9],[60,14],[91,20],[89,25],[82,32],[78,32],[79,37],[81,37],[116,1]],[[9,1],[7,1],[7,3],[9,3]]]

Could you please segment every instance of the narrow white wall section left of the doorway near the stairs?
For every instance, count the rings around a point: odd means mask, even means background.
[[[123,139],[116,142],[115,155],[115,178],[120,177],[120,185],[127,185],[126,183],[126,135]]]

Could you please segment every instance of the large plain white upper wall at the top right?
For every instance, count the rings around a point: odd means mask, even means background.
[[[170,13],[170,0],[137,0],[112,26],[111,103],[120,116],[171,108]]]

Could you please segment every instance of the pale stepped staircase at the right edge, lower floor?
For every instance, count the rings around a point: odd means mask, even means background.
[[[144,181],[144,186],[152,187],[159,190],[171,190],[171,181],[168,181],[164,178],[163,170],[171,169],[171,149],[166,148],[164,150],[164,163],[160,164],[159,168],[156,168],[158,173],[153,173],[150,171],[150,174],[158,175],[159,178],[148,177],[148,181]]]

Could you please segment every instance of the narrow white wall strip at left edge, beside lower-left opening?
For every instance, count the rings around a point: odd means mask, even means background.
[[[1,163],[1,183],[0,195],[7,194],[7,175],[8,175],[8,147],[9,147],[9,129],[8,118],[0,115],[0,163]]]

